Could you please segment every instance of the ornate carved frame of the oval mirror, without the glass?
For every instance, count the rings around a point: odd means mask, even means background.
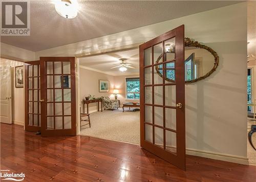
[[[199,48],[204,48],[204,49],[206,49],[207,51],[209,51],[212,56],[214,56],[214,60],[215,60],[215,62],[214,62],[214,67],[213,67],[209,72],[207,72],[207,73],[206,73],[205,75],[203,75],[203,76],[198,77],[198,78],[195,79],[195,80],[185,81],[185,84],[190,84],[190,83],[198,82],[198,81],[200,81],[200,80],[204,80],[206,77],[208,77],[209,75],[211,75],[211,74],[216,70],[216,68],[217,68],[218,65],[219,65],[219,56],[218,56],[218,54],[216,53],[216,51],[214,51],[212,48],[210,48],[210,47],[208,47],[208,46],[206,46],[206,45],[203,45],[203,44],[198,43],[198,41],[190,40],[190,38],[188,38],[188,37],[185,37],[185,39],[184,39],[184,46],[185,46],[185,47],[199,47]],[[156,63],[158,63],[158,62],[161,60],[161,58],[162,58],[162,54],[157,58]],[[162,74],[160,73],[160,71],[159,71],[159,65],[156,66],[156,71],[157,71],[157,74],[158,74],[159,76],[163,77],[163,75],[162,75]],[[166,77],[165,77],[165,80],[168,81],[168,82],[175,82],[174,80],[168,79],[168,78],[166,78]]]

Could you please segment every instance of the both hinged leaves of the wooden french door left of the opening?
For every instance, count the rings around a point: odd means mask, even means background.
[[[40,57],[25,65],[25,129],[76,135],[75,58]]]

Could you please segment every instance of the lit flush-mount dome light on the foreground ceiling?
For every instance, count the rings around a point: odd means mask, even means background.
[[[67,19],[75,18],[78,11],[78,3],[75,0],[58,0],[55,2],[57,13]]]

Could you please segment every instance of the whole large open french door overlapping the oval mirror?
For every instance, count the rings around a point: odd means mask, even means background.
[[[185,170],[184,25],[140,45],[140,135],[141,147]]]

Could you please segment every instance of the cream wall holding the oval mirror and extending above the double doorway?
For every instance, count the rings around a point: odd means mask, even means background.
[[[186,86],[186,147],[246,157],[247,3],[240,3],[146,27],[36,52],[74,56],[83,51],[150,40],[185,24],[185,36],[206,44],[220,57],[207,79]]]

